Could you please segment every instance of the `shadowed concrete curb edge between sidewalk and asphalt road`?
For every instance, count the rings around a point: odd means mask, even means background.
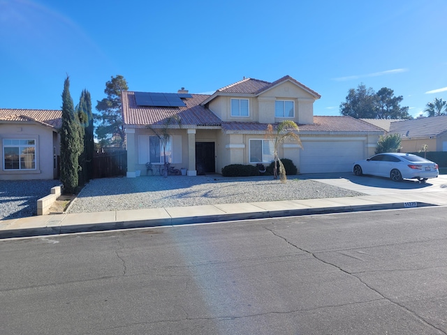
[[[405,209],[416,207],[434,207],[436,204],[426,202],[393,202],[388,204],[346,205],[338,207],[320,207],[306,209],[281,209],[278,211],[254,211],[237,214],[217,214],[205,216],[186,216],[177,218],[148,218],[131,221],[114,221],[104,223],[82,223],[79,225],[61,225],[55,221],[53,225],[34,228],[19,228],[0,231],[0,239],[17,237],[34,237],[57,234],[73,234],[78,232],[102,232],[131,228],[154,228],[161,226],[189,225],[194,223],[213,223],[223,221],[254,220],[261,218],[280,218],[288,216],[308,216],[318,214],[349,213],[354,211],[379,211],[386,209]],[[115,216],[116,217],[116,216]]]

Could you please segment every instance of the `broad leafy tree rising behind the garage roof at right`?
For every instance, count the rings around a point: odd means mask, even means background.
[[[346,101],[340,104],[340,113],[355,119],[412,119],[409,107],[400,107],[402,100],[387,87],[375,92],[360,84],[357,89],[349,89]]]

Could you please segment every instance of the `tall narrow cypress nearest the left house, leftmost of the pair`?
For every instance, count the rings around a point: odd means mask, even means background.
[[[79,155],[82,151],[80,126],[70,95],[70,79],[67,75],[62,92],[61,134],[61,183],[64,193],[75,193],[78,187]]]

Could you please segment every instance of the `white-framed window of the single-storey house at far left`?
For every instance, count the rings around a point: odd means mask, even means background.
[[[36,170],[36,140],[3,139],[4,170]]]

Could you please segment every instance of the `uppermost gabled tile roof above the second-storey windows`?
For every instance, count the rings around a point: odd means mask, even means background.
[[[222,87],[221,89],[218,89],[216,93],[222,92],[222,93],[235,93],[235,94],[261,94],[263,91],[266,91],[270,89],[271,87],[276,86],[277,84],[280,84],[281,82],[285,82],[286,80],[290,80],[291,82],[294,82],[298,86],[302,87],[306,91],[309,91],[310,94],[313,94],[314,96],[317,96],[318,98],[321,98],[320,94],[316,93],[316,91],[309,89],[309,87],[305,86],[304,84],[298,82],[298,80],[293,79],[290,75],[285,75],[284,77],[281,77],[279,80],[275,80],[274,82],[265,82],[263,80],[253,79],[253,78],[245,78],[244,80],[241,80],[240,82],[235,82],[234,84],[230,84],[226,87]]]

